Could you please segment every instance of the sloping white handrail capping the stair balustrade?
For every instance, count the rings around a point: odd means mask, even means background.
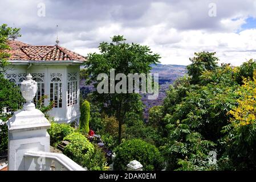
[[[58,162],[60,166],[64,168],[64,170],[66,169],[68,171],[86,171],[86,169],[79,166],[77,163],[75,163],[73,160],[71,160],[64,154],[58,154],[53,152],[42,152],[42,151],[27,151],[24,154],[24,157],[25,157],[25,165],[27,166],[26,167],[27,169],[31,168],[29,167],[29,165],[31,166],[32,161],[29,161],[29,159],[32,158],[32,159],[44,159],[44,161],[51,159],[53,161]],[[42,163],[39,165],[42,166]],[[43,164],[43,165],[47,165],[47,164]],[[47,166],[47,169],[50,170],[50,165]]]

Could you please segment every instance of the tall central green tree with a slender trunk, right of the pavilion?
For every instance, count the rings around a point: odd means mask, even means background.
[[[87,84],[94,82],[95,87],[99,84],[97,76],[100,73],[108,75],[109,71],[115,69],[118,73],[149,73],[151,64],[159,63],[160,56],[153,54],[148,46],[140,46],[135,43],[125,43],[123,36],[113,36],[112,42],[100,43],[100,53],[90,53],[85,65],[90,78]],[[116,81],[117,82],[117,81]],[[110,84],[109,84],[110,85]],[[126,90],[128,88],[125,86]],[[126,113],[142,113],[141,97],[137,93],[97,93],[94,92],[94,101],[101,104],[101,111],[108,115],[115,115],[119,121],[119,143],[121,142],[121,127]]]

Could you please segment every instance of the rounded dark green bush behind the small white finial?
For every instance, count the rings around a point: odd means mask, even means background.
[[[131,139],[115,148],[115,170],[126,170],[127,164],[137,160],[144,170],[161,170],[162,158],[159,150],[141,139]]]

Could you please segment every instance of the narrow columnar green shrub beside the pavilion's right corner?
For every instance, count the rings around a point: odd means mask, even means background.
[[[90,121],[90,103],[84,101],[81,107],[81,117],[80,117],[80,130],[88,134],[90,131],[89,121]]]

